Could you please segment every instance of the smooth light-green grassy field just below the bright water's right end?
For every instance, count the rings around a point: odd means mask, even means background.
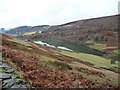
[[[75,52],[69,52],[69,51],[63,51],[63,50],[60,53],[67,56],[72,56],[74,58],[77,58],[83,61],[90,62],[97,67],[105,67],[105,68],[118,67],[118,62],[116,62],[115,64],[111,64],[110,60],[107,60],[99,56],[91,55],[91,54],[75,53]]]

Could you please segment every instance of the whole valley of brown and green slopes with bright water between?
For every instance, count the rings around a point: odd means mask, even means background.
[[[119,88],[119,15],[0,34],[2,59],[35,88]]]

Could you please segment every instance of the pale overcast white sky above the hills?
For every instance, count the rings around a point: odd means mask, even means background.
[[[118,14],[119,0],[0,0],[0,28],[60,25]]]

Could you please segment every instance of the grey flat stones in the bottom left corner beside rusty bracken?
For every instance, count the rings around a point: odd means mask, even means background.
[[[30,88],[30,84],[25,82],[14,69],[0,61],[0,89],[1,88]]]

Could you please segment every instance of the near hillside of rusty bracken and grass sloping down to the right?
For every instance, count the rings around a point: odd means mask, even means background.
[[[118,88],[118,62],[0,36],[3,62],[36,88]]]

